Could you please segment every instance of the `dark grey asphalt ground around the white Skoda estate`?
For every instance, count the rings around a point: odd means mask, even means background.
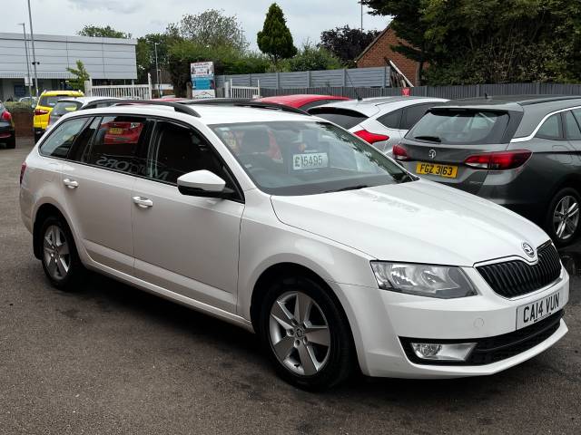
[[[255,336],[111,279],[55,290],[20,221],[31,147],[0,148],[0,433],[581,433],[581,244],[569,333],[506,372],[355,376],[325,393],[279,380]]]

